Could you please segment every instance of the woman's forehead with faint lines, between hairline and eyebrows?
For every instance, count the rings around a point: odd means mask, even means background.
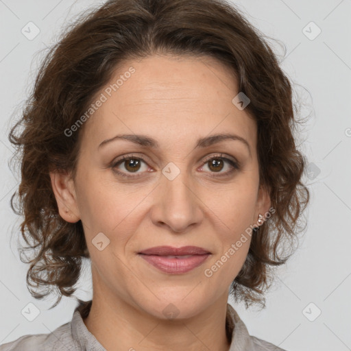
[[[131,60],[97,95],[106,101],[88,120],[86,132],[97,145],[121,133],[149,134],[162,144],[236,132],[255,147],[256,123],[232,103],[238,93],[234,73],[213,58]]]

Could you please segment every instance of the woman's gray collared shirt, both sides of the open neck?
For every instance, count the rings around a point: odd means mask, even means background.
[[[49,334],[24,335],[4,343],[0,346],[0,351],[106,351],[83,322],[90,307],[91,300],[81,303],[75,308],[71,322],[62,324]],[[226,333],[228,339],[231,339],[228,351],[285,351],[251,336],[230,304],[227,304]]]

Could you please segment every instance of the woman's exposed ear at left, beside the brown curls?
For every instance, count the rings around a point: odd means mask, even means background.
[[[71,174],[57,171],[49,174],[60,216],[67,222],[79,221],[80,211],[77,206],[77,196]]]

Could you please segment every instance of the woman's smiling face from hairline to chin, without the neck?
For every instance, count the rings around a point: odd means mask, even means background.
[[[130,66],[134,73],[124,74]],[[249,250],[245,230],[270,206],[258,189],[256,123],[232,102],[234,76],[210,58],[131,61],[110,84],[85,122],[74,183],[56,191],[60,215],[82,220],[94,293],[158,318],[172,308],[191,317],[227,301]],[[211,138],[217,134],[238,138]],[[243,233],[247,240],[228,255]],[[183,257],[183,271],[172,270],[178,258],[164,256],[156,267],[140,254],[163,245],[210,254]]]

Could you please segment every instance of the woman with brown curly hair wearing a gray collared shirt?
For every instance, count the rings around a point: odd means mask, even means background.
[[[291,254],[278,251],[308,203],[296,123],[274,53],[228,3],[113,0],[82,16],[10,140],[37,249],[29,291],[57,289],[56,306],[88,258],[93,300],[0,350],[282,350],[228,294],[264,306]]]

